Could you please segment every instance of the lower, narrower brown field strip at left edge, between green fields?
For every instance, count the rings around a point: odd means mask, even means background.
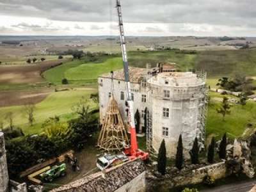
[[[46,88],[36,91],[0,92],[0,108],[36,104],[44,100],[51,92],[51,89]]]

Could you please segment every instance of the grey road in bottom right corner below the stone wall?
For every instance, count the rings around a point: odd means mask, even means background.
[[[256,185],[256,180],[225,184],[212,189],[203,189],[200,192],[247,192]]]

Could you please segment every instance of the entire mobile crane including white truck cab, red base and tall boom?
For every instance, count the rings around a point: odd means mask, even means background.
[[[124,155],[127,158],[124,158],[123,156],[120,156],[120,155],[119,156],[105,155],[103,157],[100,157],[97,160],[97,167],[100,168],[100,170],[104,170],[108,168],[109,166],[111,166],[111,164],[114,164],[115,161],[120,161],[120,159],[129,159],[129,161],[132,161],[134,159],[141,159],[143,161],[147,161],[148,159],[148,153],[143,152],[138,148],[138,142],[136,138],[134,108],[133,108],[134,105],[133,105],[132,94],[131,94],[131,83],[129,78],[129,63],[128,63],[128,56],[127,56],[127,49],[126,49],[126,42],[125,42],[125,35],[124,35],[124,23],[122,19],[122,8],[121,8],[120,0],[116,0],[116,9],[118,14],[118,25],[120,29],[120,45],[122,49],[122,58],[123,58],[123,65],[124,65],[125,86],[126,86],[126,92],[127,92],[126,103],[128,108],[128,122],[129,122],[130,132],[131,132],[131,141],[130,141],[130,145],[124,147]]]

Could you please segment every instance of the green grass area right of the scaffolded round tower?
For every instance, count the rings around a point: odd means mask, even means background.
[[[232,104],[231,114],[222,119],[222,116],[217,113],[216,109],[220,106],[223,95],[219,93],[210,93],[211,104],[208,108],[207,136],[214,135],[217,138],[221,138],[225,132],[228,137],[236,138],[243,134],[248,123],[256,122],[256,103],[248,101],[246,106],[239,104]],[[230,95],[228,95],[230,97]]]

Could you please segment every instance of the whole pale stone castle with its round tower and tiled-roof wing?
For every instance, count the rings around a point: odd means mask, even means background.
[[[182,134],[184,152],[188,155],[195,138],[204,147],[207,113],[206,74],[200,72],[175,72],[175,65],[159,63],[154,68],[129,67],[134,111],[140,111],[140,131],[147,134],[147,148],[158,151],[164,139],[169,157],[175,156],[177,141]],[[103,74],[98,78],[100,122],[109,98],[113,97],[125,124],[124,70]],[[147,112],[147,127],[144,115]]]

